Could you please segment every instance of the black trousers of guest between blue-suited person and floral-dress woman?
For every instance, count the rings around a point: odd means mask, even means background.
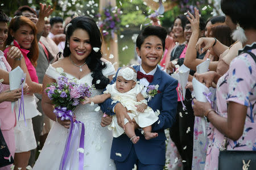
[[[181,158],[186,161],[183,162],[183,169],[191,170],[193,158],[193,129],[195,116],[191,106],[191,100],[184,101],[184,104],[187,109],[185,111],[183,111],[181,101],[178,101],[176,122],[172,126],[172,128],[170,128],[170,137],[175,143]],[[180,116],[180,113],[182,117]],[[188,127],[190,128],[190,131],[188,131]]]

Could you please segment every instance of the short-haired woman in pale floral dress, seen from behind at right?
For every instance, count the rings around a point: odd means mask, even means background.
[[[238,7],[240,12],[238,12]],[[254,9],[256,2],[222,0],[221,8],[227,19],[239,23],[245,29],[246,46],[239,51],[239,56],[230,63],[229,70],[223,75],[209,71],[205,74],[195,74],[200,82],[208,87],[217,82],[217,107],[214,111],[210,103],[194,99],[196,116],[207,117],[213,134],[208,136],[209,145],[205,169],[218,168],[218,155],[224,137],[228,139],[227,150],[256,151],[256,19]],[[247,11],[247,15],[242,11]],[[236,12],[234,12],[236,11]],[[240,18],[236,18],[240,16]],[[244,22],[251,20],[250,23]],[[252,54],[249,54],[252,53]],[[255,56],[254,56],[255,57]],[[246,75],[246,76],[245,76]]]

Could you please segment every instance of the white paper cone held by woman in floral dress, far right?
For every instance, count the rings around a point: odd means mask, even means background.
[[[193,78],[192,80],[192,85],[193,85],[193,92],[196,97],[196,100],[201,101],[201,102],[207,102],[207,97],[203,94],[205,92],[206,94],[209,94],[210,90],[207,86],[205,86],[203,83],[200,83],[196,78]],[[204,117],[201,117],[201,124],[202,128],[204,131],[204,135],[206,135],[206,124],[207,122],[205,121]]]

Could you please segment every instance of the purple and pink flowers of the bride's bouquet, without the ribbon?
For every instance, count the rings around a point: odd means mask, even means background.
[[[93,85],[77,84],[75,78],[69,79],[65,73],[61,73],[57,83],[47,84],[45,92],[56,108],[66,107],[73,111],[80,101],[84,101],[84,97],[90,97],[93,89]]]

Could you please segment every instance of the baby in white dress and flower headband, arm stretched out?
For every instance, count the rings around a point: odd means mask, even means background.
[[[133,120],[129,122],[125,119],[125,130],[118,125],[117,117],[114,115],[112,123],[108,126],[113,131],[113,137],[117,138],[124,132],[134,144],[139,141],[135,134],[135,129],[143,129],[145,139],[152,139],[158,136],[158,133],[152,133],[151,125],[158,120],[156,113],[147,106],[147,100],[142,95],[144,86],[137,83],[137,73],[133,67],[122,67],[117,74],[117,81],[108,85],[104,94],[86,97],[83,104],[103,103],[106,99],[113,99],[113,102],[119,101],[127,109],[127,114]]]

